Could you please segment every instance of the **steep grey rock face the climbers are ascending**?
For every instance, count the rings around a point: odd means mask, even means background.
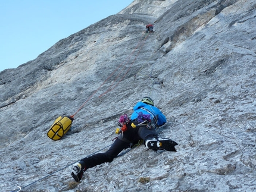
[[[254,0],[135,0],[2,71],[1,190],[255,191],[255,26]],[[143,96],[177,153],[127,149],[74,184],[71,164],[110,146]],[[63,139],[46,136],[73,114]]]

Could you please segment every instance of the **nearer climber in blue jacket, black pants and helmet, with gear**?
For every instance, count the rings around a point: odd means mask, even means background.
[[[123,149],[132,147],[133,144],[143,140],[146,148],[152,150],[166,150],[176,152],[174,146],[177,143],[170,139],[164,139],[158,136],[155,128],[166,123],[166,117],[160,109],[154,106],[154,102],[150,97],[143,97],[133,107],[133,114],[129,118],[126,114],[121,115],[116,133],[120,133],[110,149],[105,153],[96,153],[95,155],[83,158],[73,166],[71,172],[75,181],[82,179],[83,172],[86,169],[105,162],[111,162]]]

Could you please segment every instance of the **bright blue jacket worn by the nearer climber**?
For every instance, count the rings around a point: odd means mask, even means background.
[[[153,119],[155,116],[158,115],[158,121],[157,121],[157,124],[159,126],[162,126],[166,123],[166,116],[164,116],[162,114],[162,112],[160,111],[160,109],[158,109],[157,107],[155,106],[152,106],[152,105],[148,105],[146,103],[143,103],[143,102],[138,102],[134,107],[133,107],[133,114],[131,116],[131,119],[134,120],[138,117],[138,114],[139,112],[142,112],[143,114],[145,115],[151,115],[151,119]],[[148,112],[148,111],[150,112]],[[154,116],[153,116],[154,115]]]

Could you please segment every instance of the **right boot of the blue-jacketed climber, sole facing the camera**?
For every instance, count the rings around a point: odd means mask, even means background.
[[[155,151],[167,150],[168,152],[176,152],[174,147],[176,145],[177,143],[175,141],[161,137],[151,138],[145,141],[145,146]]]

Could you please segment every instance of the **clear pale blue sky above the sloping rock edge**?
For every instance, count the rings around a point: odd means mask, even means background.
[[[0,71],[35,59],[133,0],[0,0]]]

